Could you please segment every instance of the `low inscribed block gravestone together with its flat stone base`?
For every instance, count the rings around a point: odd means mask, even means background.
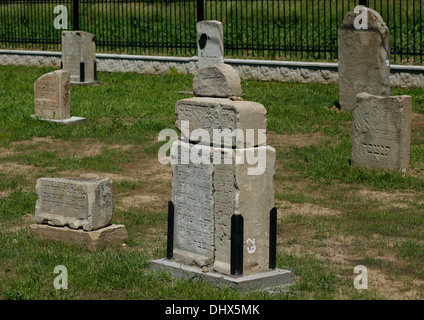
[[[28,232],[41,240],[96,250],[123,242],[127,231],[112,225],[113,187],[108,178],[39,178],[35,222]]]

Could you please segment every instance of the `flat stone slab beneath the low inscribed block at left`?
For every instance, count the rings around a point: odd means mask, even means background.
[[[124,225],[112,224],[95,231],[74,230],[67,227],[53,227],[45,224],[32,224],[28,228],[31,238],[82,245],[89,250],[125,242],[128,233]]]

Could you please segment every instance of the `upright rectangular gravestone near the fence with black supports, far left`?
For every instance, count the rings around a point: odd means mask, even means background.
[[[62,31],[62,69],[71,75],[71,84],[97,81],[95,35],[85,31]]]

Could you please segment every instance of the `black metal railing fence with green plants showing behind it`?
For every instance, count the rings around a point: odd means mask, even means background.
[[[2,0],[3,48],[60,50],[58,5],[68,29],[96,34],[98,52],[192,56],[198,19],[224,24],[228,57],[334,60],[337,29],[354,0]],[[424,0],[369,0],[390,30],[392,63],[423,63]]]

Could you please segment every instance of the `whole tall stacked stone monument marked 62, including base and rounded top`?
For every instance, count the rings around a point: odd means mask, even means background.
[[[171,148],[167,259],[152,266],[243,290],[287,285],[292,273],[276,268],[276,153],[266,145],[266,109],[229,94],[214,97],[223,74],[238,75],[222,64],[199,72],[213,68],[219,76],[206,77],[212,88],[195,77],[202,96],[175,106],[181,139]]]

